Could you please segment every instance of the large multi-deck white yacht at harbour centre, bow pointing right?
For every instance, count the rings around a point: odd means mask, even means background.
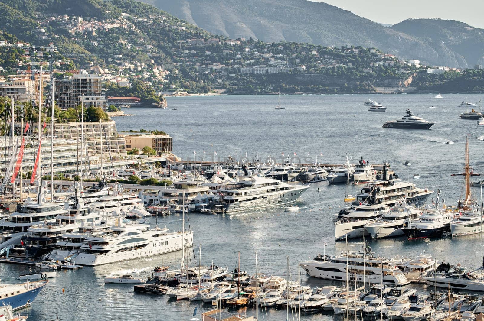
[[[247,209],[261,209],[283,206],[296,202],[309,185],[289,185],[279,180],[252,175],[243,167],[244,175],[238,181],[228,184],[218,197],[207,205],[204,212],[230,214]]]

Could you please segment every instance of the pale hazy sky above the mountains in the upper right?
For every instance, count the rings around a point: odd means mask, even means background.
[[[484,29],[483,0],[313,0],[326,2],[375,22],[396,24],[408,18],[459,20]]]

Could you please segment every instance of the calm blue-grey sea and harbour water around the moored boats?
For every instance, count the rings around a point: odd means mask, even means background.
[[[368,112],[363,102],[376,99],[387,111]],[[323,162],[343,163],[349,154],[356,161],[361,156],[374,163],[389,161],[393,170],[404,180],[413,181],[413,174],[422,178],[419,187],[442,190],[446,204],[455,204],[462,193],[461,173],[464,162],[466,136],[469,135],[470,163],[475,173],[484,173],[484,131],[475,120],[463,120],[458,115],[465,108],[456,106],[462,101],[478,104],[483,95],[293,95],[281,96],[285,110],[274,110],[276,96],[217,96],[168,98],[167,109],[124,109],[133,117],[115,118],[118,131],[163,130],[173,137],[173,151],[178,156],[212,160],[227,155],[240,158],[247,152],[249,159],[257,153],[260,159],[270,155],[278,161],[281,153],[315,161],[323,153]],[[172,110],[171,108],[177,108]],[[411,108],[416,116],[434,121],[432,130],[397,130],[382,128],[385,120],[400,118]],[[451,144],[447,144],[450,142]],[[404,166],[405,161],[412,166]],[[472,180],[479,180],[474,177]],[[316,192],[319,188],[321,192]],[[361,187],[353,187],[356,193]],[[316,183],[307,190],[301,213],[284,213],[281,209],[255,211],[237,216],[207,216],[191,214],[190,228],[195,231],[194,251],[202,247],[202,264],[212,262],[234,267],[241,252],[242,270],[287,275],[286,256],[289,256],[291,278],[297,279],[297,263],[323,252],[333,254],[345,249],[344,243],[333,240],[333,214],[343,205],[345,186],[330,187]],[[479,190],[473,190],[477,196]],[[434,194],[435,197],[435,194]],[[181,217],[172,215],[158,218],[159,226],[181,230]],[[150,219],[151,225],[156,223]],[[350,250],[358,250],[361,243],[351,242]],[[385,256],[417,256],[430,253],[440,260],[462,263],[469,267],[481,266],[480,235],[462,238],[442,238],[433,241],[380,240],[371,243],[378,254]],[[23,310],[29,320],[189,320],[194,308],[200,313],[211,309],[189,301],[167,301],[166,296],[140,295],[131,285],[105,285],[104,277],[121,273],[148,276],[157,264],[180,264],[181,253],[107,264],[78,271],[61,271],[58,277]],[[29,267],[0,264],[4,283],[14,283],[15,276]],[[328,284],[302,275],[312,287]],[[65,292],[62,294],[62,289]],[[423,287],[419,288],[425,290]],[[99,301],[99,299],[101,299]],[[243,311],[240,311],[241,313]],[[249,309],[248,314],[255,313]],[[286,320],[286,312],[259,311],[260,320]],[[289,319],[292,319],[289,316]],[[304,319],[304,317],[303,317]],[[307,316],[307,320],[330,320],[331,315]]]

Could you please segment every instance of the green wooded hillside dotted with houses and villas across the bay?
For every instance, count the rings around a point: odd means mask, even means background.
[[[451,90],[446,85],[451,81],[462,92],[484,90],[482,71],[472,77],[464,70],[427,75],[373,46],[228,39],[133,0],[0,3],[0,38],[8,44],[0,45],[2,74],[21,73],[32,59],[64,61],[56,66],[57,77],[78,69],[102,74],[109,79],[106,96],[141,96],[158,103],[156,92],[371,93],[377,87],[408,86],[425,91]],[[343,28],[345,33],[351,34]],[[122,87],[117,78],[126,78],[131,87]]]

